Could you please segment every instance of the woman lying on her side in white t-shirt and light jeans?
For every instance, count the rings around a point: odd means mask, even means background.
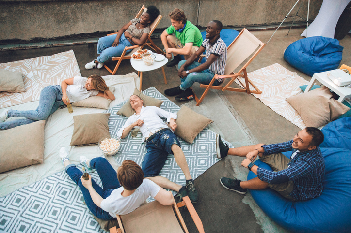
[[[0,116],[0,130],[7,130],[16,126],[30,124],[38,120],[46,120],[60,107],[68,102],[77,102],[90,96],[102,96],[114,100],[113,93],[107,87],[105,80],[98,75],[91,75],[88,79],[76,76],[65,79],[60,85],[45,87],[40,92],[39,106],[36,110],[19,111],[7,110]],[[4,122],[9,117],[25,117]]]

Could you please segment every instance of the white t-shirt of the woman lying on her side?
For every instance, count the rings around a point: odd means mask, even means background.
[[[98,90],[86,90],[85,83],[87,78],[83,78],[80,76],[76,76],[73,78],[73,85],[68,85],[66,89],[66,94],[69,99],[69,102],[77,102],[81,100],[85,100],[90,96],[96,96],[99,91]]]

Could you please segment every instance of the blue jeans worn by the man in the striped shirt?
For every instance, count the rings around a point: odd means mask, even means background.
[[[185,62],[186,60],[179,61],[178,67],[180,68]],[[201,65],[199,62],[194,61],[189,66],[185,67],[185,70],[194,69],[199,65]],[[189,73],[188,76],[181,79],[182,84],[180,85],[180,89],[186,90],[189,87],[191,87],[195,82],[208,85],[211,82],[213,77],[214,77],[214,73],[212,73],[208,69],[200,72]],[[219,84],[220,82],[218,82],[217,80],[215,80],[213,83],[214,86],[217,86]]]

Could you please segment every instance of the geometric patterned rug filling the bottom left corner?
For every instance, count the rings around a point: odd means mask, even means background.
[[[78,165],[81,169],[81,165]],[[91,174],[97,184],[97,173]],[[0,232],[103,233],[64,171],[0,198]]]

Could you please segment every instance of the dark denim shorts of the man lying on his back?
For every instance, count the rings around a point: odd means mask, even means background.
[[[172,145],[176,144],[180,147],[180,142],[170,129],[155,134],[156,136],[145,146],[147,152],[142,164],[144,177],[158,176],[168,155],[173,155]]]

